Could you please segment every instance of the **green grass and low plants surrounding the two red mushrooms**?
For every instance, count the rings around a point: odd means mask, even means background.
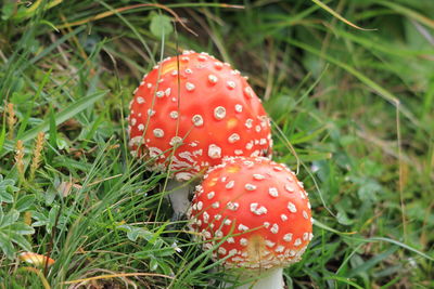
[[[290,288],[434,287],[434,2],[237,4],[3,2],[0,288],[218,288],[237,275],[170,222],[166,175],[127,149],[132,91],[178,49],[250,77],[275,160],[310,192],[315,238],[284,271]]]

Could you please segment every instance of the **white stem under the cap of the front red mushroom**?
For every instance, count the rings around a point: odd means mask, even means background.
[[[247,276],[246,276],[247,277]],[[252,275],[248,276],[252,278]],[[227,285],[226,288],[233,287],[233,285]],[[238,289],[283,289],[283,268],[277,267],[266,272],[261,272],[259,279],[253,280],[248,284],[237,287]]]

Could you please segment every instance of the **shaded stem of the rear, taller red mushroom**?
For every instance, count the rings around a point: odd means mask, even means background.
[[[167,197],[174,209],[174,221],[178,221],[187,213],[190,207],[189,193],[190,184],[182,184],[175,180],[169,180],[166,186],[167,192],[171,192]]]

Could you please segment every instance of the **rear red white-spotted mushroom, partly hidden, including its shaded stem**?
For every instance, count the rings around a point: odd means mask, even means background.
[[[269,118],[240,71],[207,53],[184,51],[143,77],[130,103],[129,146],[152,170],[188,181],[225,156],[269,156]],[[179,187],[171,182],[168,189]],[[169,196],[175,214],[190,206],[189,187]]]

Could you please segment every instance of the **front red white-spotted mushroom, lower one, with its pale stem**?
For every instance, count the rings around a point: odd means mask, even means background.
[[[241,288],[283,288],[282,268],[301,260],[314,236],[310,203],[295,174],[267,158],[232,157],[210,168],[195,193],[188,215],[204,250],[220,244],[214,260],[248,268],[245,276],[265,273]]]

